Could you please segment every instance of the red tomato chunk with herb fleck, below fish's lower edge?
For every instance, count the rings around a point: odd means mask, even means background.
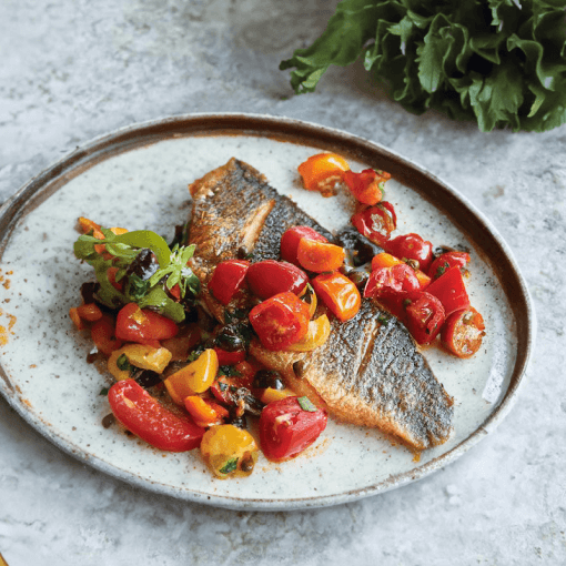
[[[260,444],[267,459],[293,458],[313,444],[326,428],[326,412],[307,397],[285,397],[264,407],[260,417]]]

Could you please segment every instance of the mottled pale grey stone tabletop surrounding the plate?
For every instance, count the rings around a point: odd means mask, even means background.
[[[566,562],[566,127],[482,133],[407,114],[361,67],[293,97],[279,61],[337,2],[0,3],[0,200],[91,138],[190,112],[310,120],[386,145],[467,196],[511,245],[538,319],[514,410],[469,453],[326,509],[230,512],[131,487],[65,455],[0,398],[0,553],[41,565],[558,565]]]

